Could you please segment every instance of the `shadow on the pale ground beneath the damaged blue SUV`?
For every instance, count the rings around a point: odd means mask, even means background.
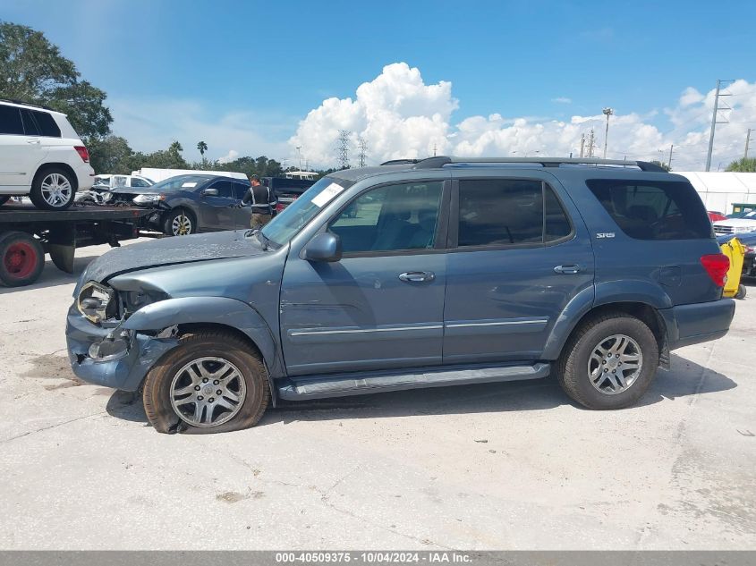
[[[688,359],[672,356],[672,371],[659,371],[639,405],[733,389],[735,382],[712,369]],[[319,401],[280,401],[259,421],[264,427],[302,420],[343,420],[345,418],[388,418],[448,415],[513,410],[545,410],[572,404],[556,379],[504,384],[457,385],[433,389],[339,397]],[[115,392],[106,410],[116,418],[146,422],[141,398],[134,393]]]

